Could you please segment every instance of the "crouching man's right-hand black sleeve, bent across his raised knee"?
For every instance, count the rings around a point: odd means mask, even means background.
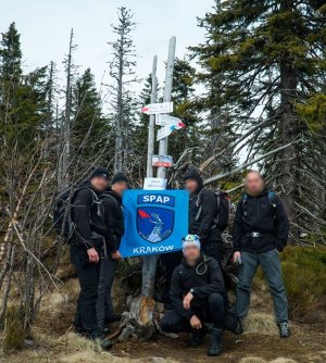
[[[210,270],[210,284],[193,288],[193,296],[200,300],[206,299],[213,292],[225,296],[224,279],[218,262],[214,259],[210,260],[208,268]]]

